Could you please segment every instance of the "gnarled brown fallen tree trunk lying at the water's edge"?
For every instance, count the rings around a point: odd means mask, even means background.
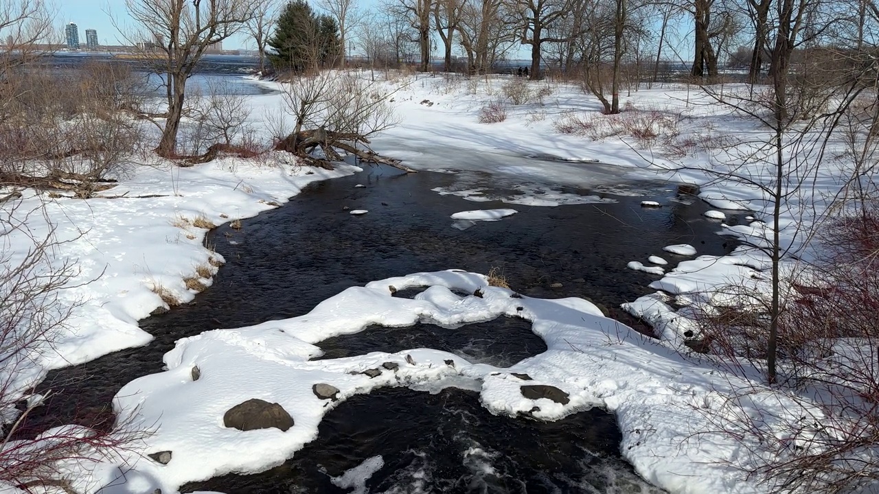
[[[358,148],[358,144],[362,144],[364,149]],[[341,149],[348,154],[357,156],[361,161],[366,163],[382,163],[399,168],[407,173],[415,172],[408,166],[400,163],[400,160],[379,155],[372,149],[369,149],[368,144],[369,140],[361,134],[339,133],[323,128],[316,128],[289,134],[275,144],[274,149],[276,151],[287,151],[288,153],[301,157],[309,164],[320,166],[328,170],[332,170],[331,161],[342,160],[342,156],[339,156],[338,151],[336,150]],[[326,156],[327,159],[311,156],[312,151],[316,148],[323,150],[323,156]]]

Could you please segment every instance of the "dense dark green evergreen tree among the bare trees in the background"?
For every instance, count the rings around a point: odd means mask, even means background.
[[[268,45],[276,69],[297,71],[327,67],[338,60],[338,25],[330,16],[316,15],[305,0],[288,2],[280,12]]]

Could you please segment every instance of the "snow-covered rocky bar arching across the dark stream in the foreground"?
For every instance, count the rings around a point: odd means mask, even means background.
[[[428,288],[414,299],[392,296],[391,287],[424,286]],[[477,288],[481,297],[452,291],[473,293]],[[641,476],[665,489],[712,494],[762,489],[736,469],[714,462],[729,459],[738,445],[728,436],[709,432],[714,429],[706,412],[693,406],[714,403],[712,396],[736,385],[737,378],[686,360],[601,316],[588,301],[512,294],[488,286],[486,277],[472,272],[421,272],[348,288],[303,316],[181,339],[164,356],[166,371],[128,383],[114,398],[121,421],[156,427],[141,453],[171,451],[173,457],[167,465],[136,462],[129,477],[138,482],[117,481],[112,492],[173,492],[188,481],[272,468],[314,440],[323,414],[346,398],[381,386],[418,388],[450,378],[472,383],[469,386],[480,390],[483,406],[496,414],[529,413],[555,420],[592,406],[614,412],[622,432],[622,454]],[[421,321],[458,328],[448,331],[468,331],[459,326],[498,316],[531,321],[532,331],[548,350],[509,368],[472,364],[431,349],[309,360],[321,354],[317,345],[323,339],[371,324],[403,327]],[[193,381],[196,366],[200,378]],[[363,374],[368,369],[377,374]],[[527,374],[532,381],[512,373]],[[312,392],[316,383],[336,387],[338,401],[318,398]],[[554,386],[569,400],[528,399],[520,389],[525,383]],[[287,432],[224,427],[224,412],[251,398],[280,403],[294,418],[294,426]],[[361,466],[349,480],[377,463]],[[102,471],[113,469],[96,470]]]

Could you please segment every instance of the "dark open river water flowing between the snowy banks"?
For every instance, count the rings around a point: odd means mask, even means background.
[[[583,166],[589,173],[591,165]],[[504,186],[489,175],[476,178],[495,189]],[[56,394],[34,410],[22,433],[70,422],[112,424],[113,395],[128,381],[161,372],[163,353],[178,338],[300,316],[346,287],[411,272],[495,267],[521,294],[588,298],[649,332],[617,309],[650,293],[646,286],[655,279],[627,269],[628,261],[662,255],[673,263],[681,258],[662,251],[672,243],[692,243],[700,254],[715,255],[735,246],[716,235],[716,222],[701,215],[705,205],[670,201],[674,187],[665,184],[636,184],[648,191],[643,197],[605,194],[619,201],[614,204],[560,207],[476,203],[432,192],[454,189],[458,179],[367,166],[352,177],[309,185],[284,207],[243,221],[243,229],[214,230],[209,241],[228,261],[214,286],[191,304],[142,321],[156,337],[150,345],[50,374],[40,389]],[[645,209],[641,200],[658,200],[665,207]],[[465,230],[452,227],[451,214],[493,207],[519,213]],[[369,213],[354,216],[348,208]],[[726,220],[737,221],[737,216]],[[498,337],[489,340],[484,334]],[[498,366],[546,348],[526,322],[506,318],[456,331],[429,324],[405,332],[376,326],[319,345],[328,357],[434,347]],[[614,416],[603,410],[544,424],[494,417],[473,391],[381,389],[338,405],[323,420],[318,440],[285,466],[214,478],[184,491],[344,492],[330,476],[375,455],[382,456],[384,466],[367,483],[370,492],[653,491],[621,460],[619,441]]]

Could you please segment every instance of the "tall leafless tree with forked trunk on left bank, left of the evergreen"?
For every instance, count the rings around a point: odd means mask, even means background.
[[[144,57],[163,78],[168,112],[156,152],[173,157],[186,80],[208,47],[237,33],[253,18],[254,4],[251,0],[126,0],[125,4],[142,26]]]

